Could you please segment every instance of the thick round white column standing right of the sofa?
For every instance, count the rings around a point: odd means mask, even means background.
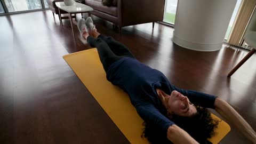
[[[179,0],[173,42],[197,51],[221,49],[237,0]]]

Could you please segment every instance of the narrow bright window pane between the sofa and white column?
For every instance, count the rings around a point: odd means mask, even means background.
[[[165,3],[164,22],[174,24],[178,0],[167,0]]]

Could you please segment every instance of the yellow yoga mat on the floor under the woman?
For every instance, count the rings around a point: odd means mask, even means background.
[[[129,96],[107,81],[97,49],[71,53],[63,58],[131,143],[149,143],[140,137],[143,121],[132,106]],[[219,143],[229,131],[230,126],[221,121],[215,129],[217,134],[210,141]]]

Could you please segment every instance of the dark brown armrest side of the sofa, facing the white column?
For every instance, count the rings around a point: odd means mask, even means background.
[[[164,4],[165,0],[118,0],[119,23],[123,27],[163,21]]]

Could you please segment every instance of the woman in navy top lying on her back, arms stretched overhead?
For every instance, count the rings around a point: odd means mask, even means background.
[[[227,102],[172,85],[161,71],[135,59],[125,45],[99,34],[91,17],[79,20],[78,29],[84,41],[97,47],[108,81],[129,94],[145,121],[142,135],[150,143],[210,143],[207,139],[218,126],[206,109],[212,108],[256,144],[255,131]]]

